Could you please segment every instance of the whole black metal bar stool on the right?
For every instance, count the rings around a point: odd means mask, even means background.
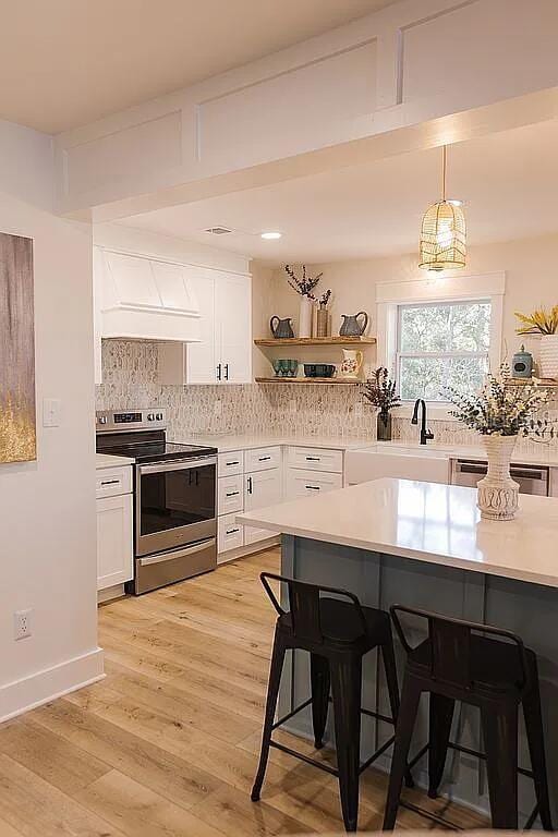
[[[396,728],[384,829],[396,824],[401,785],[408,769],[409,748],[422,692],[429,693],[428,744],[411,762],[428,752],[428,796],[435,798],[441,781],[448,747],[486,760],[488,796],[494,828],[518,828],[518,774],[534,780],[537,814],[551,830],[543,720],[535,654],[511,631],[440,614],[395,605],[393,624],[407,651],[401,709]],[[428,636],[411,647],[400,614],[427,620]],[[449,740],[456,701],[481,709],[485,753]],[[518,714],[523,706],[532,769],[518,766]],[[427,812],[405,804],[426,816]],[[436,817],[439,822],[439,817]]]

